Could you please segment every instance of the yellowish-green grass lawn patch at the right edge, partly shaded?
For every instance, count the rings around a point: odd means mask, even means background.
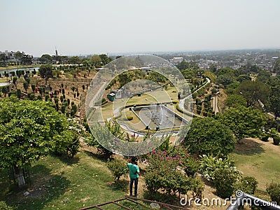
[[[253,176],[258,181],[258,190],[265,191],[267,183],[280,180],[280,146],[258,139],[244,139],[236,146],[235,165],[244,176]]]

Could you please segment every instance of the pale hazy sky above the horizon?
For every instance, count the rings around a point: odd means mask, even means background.
[[[279,0],[0,0],[0,51],[279,48],[279,8]]]

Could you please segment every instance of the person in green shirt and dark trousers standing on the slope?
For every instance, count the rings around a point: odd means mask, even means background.
[[[132,157],[131,162],[127,163],[127,167],[130,170],[130,196],[132,196],[132,187],[134,183],[134,197],[137,197],[137,187],[140,170],[135,157]]]

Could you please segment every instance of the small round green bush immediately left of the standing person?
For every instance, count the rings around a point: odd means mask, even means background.
[[[113,174],[115,181],[118,181],[120,176],[125,176],[128,173],[127,165],[121,160],[109,160],[107,167]]]

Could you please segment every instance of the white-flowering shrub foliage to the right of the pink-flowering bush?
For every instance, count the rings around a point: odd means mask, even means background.
[[[218,158],[218,156],[215,157],[214,155],[200,156],[200,170],[205,179],[215,182],[215,174],[219,169],[228,169],[230,174],[233,174],[237,178],[242,174],[235,167],[233,158]]]

